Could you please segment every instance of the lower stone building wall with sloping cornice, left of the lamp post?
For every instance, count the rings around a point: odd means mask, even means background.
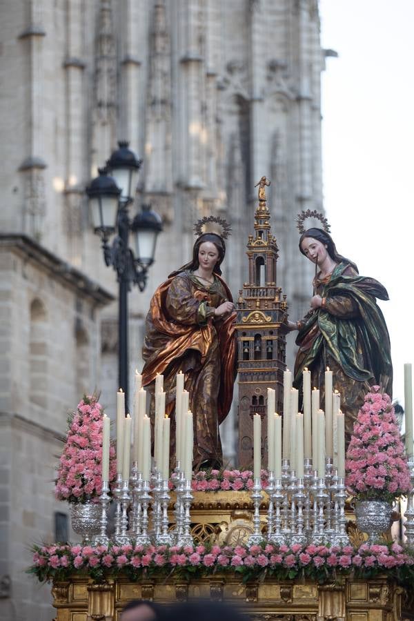
[[[0,580],[10,579],[1,618],[51,618],[48,589],[24,570],[30,546],[54,542],[56,514],[68,515],[55,469],[68,413],[97,386],[99,311],[111,299],[32,239],[0,235]]]

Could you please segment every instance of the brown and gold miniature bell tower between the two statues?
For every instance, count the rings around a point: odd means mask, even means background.
[[[283,407],[286,368],[287,304],[277,286],[277,243],[270,231],[266,186],[260,179],[255,235],[248,236],[248,282],[237,299],[239,373],[239,468],[253,464],[253,415],[262,417],[262,460],[267,462],[267,388],[276,391],[276,411]]]

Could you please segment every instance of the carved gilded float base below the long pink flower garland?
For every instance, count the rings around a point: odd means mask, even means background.
[[[237,576],[217,574],[190,582],[173,578],[128,582],[118,577],[93,584],[88,577],[77,575],[68,582],[55,582],[52,595],[56,621],[119,621],[121,610],[132,599],[172,604],[199,598],[224,600],[255,621],[414,620],[413,595],[386,577],[364,581],[346,578],[323,585],[270,578],[242,584]]]

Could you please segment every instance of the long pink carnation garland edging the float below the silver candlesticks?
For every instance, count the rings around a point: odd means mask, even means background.
[[[33,546],[33,564],[28,573],[40,582],[67,580],[73,573],[104,580],[106,575],[170,575],[199,578],[217,571],[238,573],[246,582],[265,575],[278,580],[306,577],[325,582],[337,574],[372,578],[386,573],[400,583],[414,580],[414,553],[396,542],[353,546],[261,545],[233,546]]]

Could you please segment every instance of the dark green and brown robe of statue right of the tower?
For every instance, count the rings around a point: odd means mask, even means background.
[[[393,367],[384,315],[375,298],[388,299],[386,289],[373,278],[359,276],[346,262],[331,276],[317,280],[324,306],[308,313],[297,335],[294,386],[302,388],[302,371],[311,371],[312,386],[321,391],[324,407],[324,372],[333,371],[333,388],[341,393],[347,443],[364,394],[382,384],[392,396]]]

